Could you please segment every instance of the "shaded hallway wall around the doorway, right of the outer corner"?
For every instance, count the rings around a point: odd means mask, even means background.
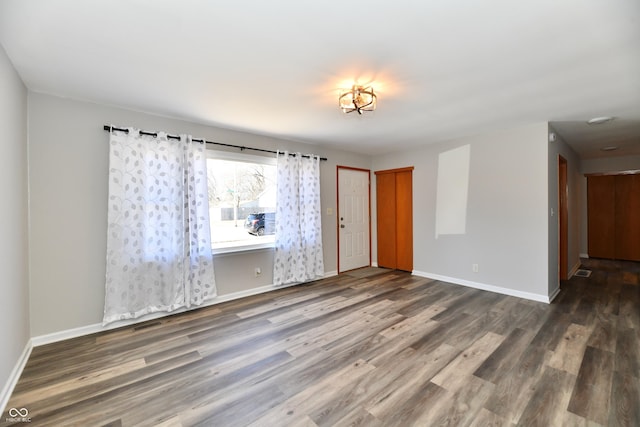
[[[549,294],[552,295],[560,288],[559,281],[559,194],[558,194],[558,158],[562,156],[567,161],[568,187],[568,247],[567,273],[571,274],[580,265],[580,241],[582,221],[582,175],[581,161],[578,154],[567,145],[552,127],[549,132],[556,134],[556,140],[549,142],[549,208],[554,216],[549,221]]]

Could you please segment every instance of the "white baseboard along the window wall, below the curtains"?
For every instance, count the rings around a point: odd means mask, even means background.
[[[328,271],[328,272],[324,273],[323,278],[333,277],[333,276],[337,276],[337,275],[338,275],[337,271]],[[188,309],[187,308],[181,308],[181,309],[178,309],[178,310],[174,310],[172,312],[150,313],[150,314],[147,314],[145,316],[139,317],[137,319],[129,319],[129,320],[121,320],[121,321],[118,321],[118,322],[112,322],[112,323],[109,323],[106,326],[103,326],[102,323],[94,323],[93,325],[87,325],[87,326],[81,326],[81,327],[78,327],[78,328],[67,329],[67,330],[64,330],[64,331],[53,332],[51,334],[39,335],[37,337],[31,338],[31,342],[32,342],[33,347],[38,347],[38,346],[45,345],[45,344],[51,344],[51,343],[54,343],[54,342],[64,341],[64,340],[68,340],[68,339],[71,339],[71,338],[77,338],[77,337],[81,337],[81,336],[84,336],[84,335],[95,334],[97,332],[104,332],[104,331],[109,331],[111,329],[117,329],[117,328],[122,328],[122,327],[125,327],[125,326],[131,326],[131,325],[135,325],[136,323],[146,322],[148,320],[159,319],[161,317],[165,317],[165,316],[169,316],[169,315],[173,315],[173,314],[184,313],[184,312],[190,311],[190,310],[197,310],[199,308],[209,307],[209,306],[216,305],[216,304],[222,304],[223,302],[233,301],[233,300],[237,300],[237,299],[240,299],[240,298],[246,298],[246,297],[250,297],[252,295],[264,294],[266,292],[274,291],[276,289],[284,289],[284,288],[288,288],[288,287],[291,287],[291,286],[297,286],[297,285],[300,285],[300,283],[292,283],[292,284],[284,285],[284,286],[275,286],[273,284],[260,286],[258,288],[252,288],[252,289],[247,289],[247,290],[244,290],[244,291],[233,292],[233,293],[226,294],[226,295],[219,295],[216,298],[212,299],[211,301],[207,301],[207,302],[205,302],[202,305],[199,305],[197,307],[191,307],[191,308],[188,308]]]

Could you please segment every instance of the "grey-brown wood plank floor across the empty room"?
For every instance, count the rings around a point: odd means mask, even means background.
[[[36,347],[7,410],[43,426],[639,426],[640,264],[583,265],[550,305],[382,271]]]

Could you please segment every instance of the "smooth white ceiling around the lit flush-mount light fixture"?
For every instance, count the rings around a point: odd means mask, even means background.
[[[0,43],[33,91],[354,152],[551,121],[640,154],[638,0],[0,0]]]

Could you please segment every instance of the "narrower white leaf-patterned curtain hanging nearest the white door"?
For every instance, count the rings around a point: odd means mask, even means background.
[[[275,285],[324,275],[320,158],[278,152]]]

